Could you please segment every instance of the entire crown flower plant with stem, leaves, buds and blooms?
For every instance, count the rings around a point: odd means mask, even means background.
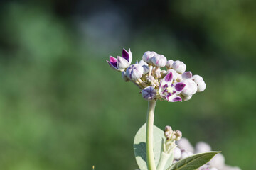
[[[107,62],[112,69],[122,72],[124,81],[138,86],[142,98],[148,101],[146,123],[139,128],[134,137],[134,154],[139,169],[165,170],[179,169],[182,166],[182,169],[224,170],[222,167],[225,166],[225,162],[221,154],[210,161],[219,152],[210,151],[206,143],[198,143],[198,154],[194,154],[193,147],[182,137],[181,131],[172,130],[171,126],[166,126],[163,131],[154,125],[157,100],[188,101],[194,94],[206,89],[203,77],[186,71],[187,67],[183,62],[167,60],[164,55],[152,51],[145,52],[142,60],[132,64],[131,50],[127,52],[123,49],[122,57],[110,56]],[[142,142],[145,145],[141,145]],[[142,154],[146,160],[142,161]]]

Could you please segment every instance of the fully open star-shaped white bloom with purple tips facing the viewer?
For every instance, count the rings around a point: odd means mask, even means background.
[[[181,91],[184,89],[186,84],[184,83],[173,83],[173,74],[170,72],[164,79],[162,79],[159,86],[159,94],[161,98],[169,102],[182,101]]]

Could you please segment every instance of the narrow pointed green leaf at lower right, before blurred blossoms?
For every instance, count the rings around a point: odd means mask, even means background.
[[[179,162],[176,162],[174,165],[170,166],[166,170],[193,170],[198,169],[200,166],[206,164],[212,159],[215,154],[220,152],[212,151],[205,152],[201,154],[193,154],[191,157],[186,157],[181,159]]]

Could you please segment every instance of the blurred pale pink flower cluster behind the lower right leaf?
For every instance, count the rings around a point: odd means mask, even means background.
[[[211,150],[210,145],[206,142],[197,142],[196,147],[193,148],[185,137],[181,137],[181,140],[177,141],[177,145],[178,147],[174,149],[173,164],[193,154],[210,152]],[[240,170],[240,168],[226,165],[223,154],[216,154],[210,162],[201,166],[198,170]]]

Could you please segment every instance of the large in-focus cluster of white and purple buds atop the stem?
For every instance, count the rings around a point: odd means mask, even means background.
[[[123,49],[122,57],[110,56],[107,62],[112,69],[122,72],[124,81],[132,81],[142,89],[142,97],[146,100],[188,101],[193,94],[206,89],[201,76],[186,72],[186,64],[167,60],[156,52],[147,51],[141,61],[131,64],[131,50]]]

